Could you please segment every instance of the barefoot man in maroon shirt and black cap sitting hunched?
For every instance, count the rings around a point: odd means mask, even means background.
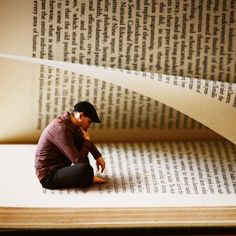
[[[65,112],[44,129],[35,154],[36,175],[43,187],[88,187],[104,182],[94,176],[88,159],[90,152],[103,172],[105,161],[88,132],[92,122],[100,123],[97,112],[91,103],[82,101],[72,113]]]

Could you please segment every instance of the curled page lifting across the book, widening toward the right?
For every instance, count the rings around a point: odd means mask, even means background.
[[[8,54],[0,54],[0,57],[60,68],[122,86],[188,115],[236,144],[235,83]]]

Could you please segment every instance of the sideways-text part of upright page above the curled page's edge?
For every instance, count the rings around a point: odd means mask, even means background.
[[[2,53],[235,81],[233,0],[1,0],[0,11]]]

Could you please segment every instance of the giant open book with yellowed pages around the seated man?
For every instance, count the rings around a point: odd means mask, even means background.
[[[0,228],[235,226],[235,12],[232,0],[2,0]],[[39,135],[80,100],[102,120],[106,183],[43,189]]]

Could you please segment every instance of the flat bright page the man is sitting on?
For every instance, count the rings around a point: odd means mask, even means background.
[[[35,147],[0,146],[1,207],[236,205],[236,149],[229,142],[100,144],[106,183],[66,190],[42,188],[34,170]],[[90,163],[96,174],[91,157]]]

